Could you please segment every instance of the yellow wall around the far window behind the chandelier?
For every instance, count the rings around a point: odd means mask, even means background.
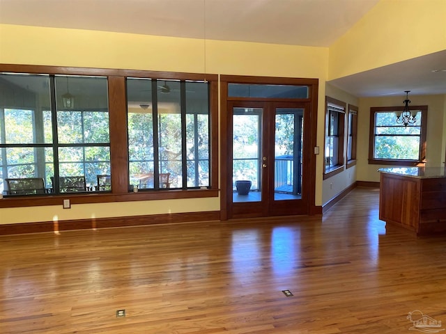
[[[406,97],[367,97],[360,99],[358,113],[357,138],[357,180],[379,182],[378,168],[389,166],[369,165],[369,124],[370,108],[372,106],[403,106]],[[426,138],[426,166],[443,166],[445,161],[445,127],[446,95],[413,95],[410,97],[411,106],[428,105],[427,138]]]

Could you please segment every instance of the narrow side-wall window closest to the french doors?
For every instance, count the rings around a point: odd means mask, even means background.
[[[344,124],[346,104],[325,97],[325,173],[324,178],[344,169]]]

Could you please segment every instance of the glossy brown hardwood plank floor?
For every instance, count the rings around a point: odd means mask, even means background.
[[[410,333],[420,312],[446,327],[446,237],[386,230],[376,189],[323,217],[17,234],[0,247],[2,334]]]

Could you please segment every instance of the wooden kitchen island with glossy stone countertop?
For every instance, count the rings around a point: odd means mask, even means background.
[[[446,232],[444,167],[380,168],[379,218],[417,235]]]

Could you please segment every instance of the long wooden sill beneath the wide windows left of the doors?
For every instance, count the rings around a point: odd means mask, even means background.
[[[63,194],[49,196],[11,196],[0,200],[0,208],[4,207],[40,207],[45,205],[62,205],[69,199],[73,204],[91,204],[107,202],[134,202],[140,200],[175,200],[183,198],[218,197],[220,190],[194,189],[169,191],[138,191],[137,193],[88,193]]]

